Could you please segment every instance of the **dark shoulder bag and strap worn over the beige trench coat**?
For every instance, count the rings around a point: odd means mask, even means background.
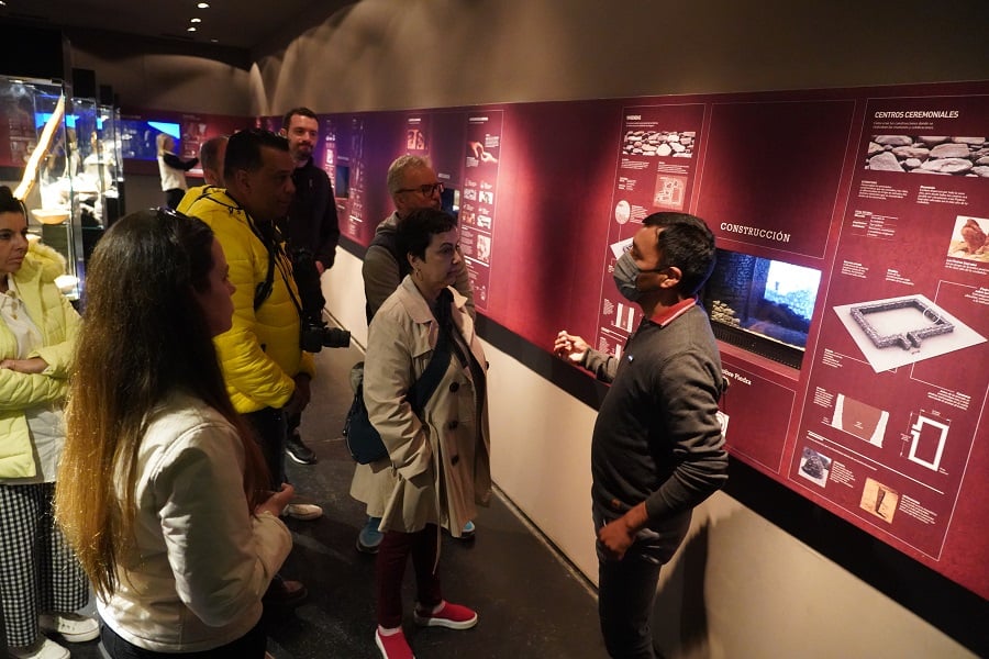
[[[408,401],[412,405],[412,411],[416,416],[421,416],[425,409],[426,402],[432,398],[446,367],[449,366],[449,357],[452,337],[447,332],[441,328],[440,336],[436,339],[436,348],[433,350],[433,357],[426,365],[422,377],[409,388]],[[364,405],[364,373],[357,382],[357,391],[354,393],[354,402],[347,412],[347,420],[344,422],[344,440],[347,444],[347,450],[351,457],[360,465],[369,465],[388,456],[388,449],[381,442],[381,435],[371,425],[370,418],[367,416],[367,407]]]

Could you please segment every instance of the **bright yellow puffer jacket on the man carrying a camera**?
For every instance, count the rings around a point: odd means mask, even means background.
[[[312,355],[299,347],[299,292],[285,256],[275,267],[271,294],[254,310],[254,291],[268,276],[268,252],[248,224],[247,212],[220,188],[197,198],[186,214],[209,224],[230,265],[233,327],[214,339],[226,390],[237,412],[284,407],[295,376],[314,372]]]

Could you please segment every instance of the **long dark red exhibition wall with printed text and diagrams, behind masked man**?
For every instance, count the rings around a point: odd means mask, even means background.
[[[794,365],[720,342],[731,453],[989,597],[989,82],[321,124],[345,238],[366,246],[392,211],[393,158],[430,157],[479,312],[547,351],[562,328],[621,350],[638,319],[611,270],[652,212],[696,213],[720,248],[820,271]]]

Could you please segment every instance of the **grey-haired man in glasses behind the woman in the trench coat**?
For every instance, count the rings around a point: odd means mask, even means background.
[[[419,209],[440,210],[442,205],[440,196],[443,192],[443,183],[437,180],[436,172],[429,160],[419,156],[401,156],[396,159],[388,168],[387,185],[395,203],[395,212],[386,217],[375,231],[375,237],[364,256],[362,270],[364,297],[367,299],[365,312],[368,324],[385,300],[395,292],[412,269],[408,259],[398,254],[395,234],[399,222],[412,211]],[[462,268],[457,275],[454,288],[467,298],[467,312],[474,317],[474,291],[470,288],[466,268]],[[386,479],[385,482],[390,484],[387,477],[388,474],[382,471],[375,473],[374,465],[357,465],[354,480],[351,483],[351,496],[365,503],[374,501],[377,499],[374,492],[380,490],[381,479]],[[378,551],[378,545],[384,536],[378,530],[381,512],[368,509],[367,524],[357,536],[358,551],[364,554]],[[474,537],[474,522],[468,522],[460,539],[470,539]]]

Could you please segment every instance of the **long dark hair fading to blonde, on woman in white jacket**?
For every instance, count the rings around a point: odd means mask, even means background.
[[[210,286],[213,241],[199,220],[138,211],[100,238],[88,268],[55,511],[103,599],[115,591],[116,566],[134,543],[137,455],[148,414],[173,392],[200,399],[237,429],[248,511],[268,481],[193,295]]]

